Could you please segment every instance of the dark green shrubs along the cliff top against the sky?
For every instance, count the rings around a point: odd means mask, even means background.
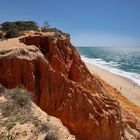
[[[34,21],[14,21],[14,22],[4,22],[0,25],[0,38],[15,38],[21,36],[24,31],[38,31],[43,32],[55,32],[55,37],[70,36],[68,33],[64,33],[57,28],[50,28],[49,21],[44,21],[44,24],[39,27]]]

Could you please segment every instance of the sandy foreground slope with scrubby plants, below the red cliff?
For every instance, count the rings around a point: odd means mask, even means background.
[[[7,90],[0,85],[0,139],[74,140],[74,137],[59,120],[42,112],[31,101],[28,91]]]

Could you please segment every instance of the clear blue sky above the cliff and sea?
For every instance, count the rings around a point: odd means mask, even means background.
[[[49,20],[75,46],[139,46],[140,0],[0,0],[0,22]]]

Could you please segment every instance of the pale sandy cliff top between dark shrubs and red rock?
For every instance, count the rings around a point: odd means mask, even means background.
[[[55,31],[47,31],[47,32],[39,32],[39,31],[24,31],[23,35],[21,37],[12,38],[12,39],[6,39],[3,41],[0,41],[0,57],[4,56],[17,56],[20,58],[32,60],[35,59],[38,56],[43,57],[40,50],[35,47],[35,45],[26,45],[20,41],[22,38],[30,36],[30,37],[49,37],[53,40],[53,42],[56,42],[57,39],[64,40],[68,38],[65,34],[56,35],[58,34]]]

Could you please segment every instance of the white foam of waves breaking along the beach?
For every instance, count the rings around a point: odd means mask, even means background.
[[[87,58],[86,56],[81,56],[81,58],[83,61],[89,64],[96,65],[109,72],[128,78],[140,86],[140,74],[134,72],[126,72],[124,70],[118,69],[117,66],[119,66],[119,64],[117,62],[106,62],[102,59]]]

